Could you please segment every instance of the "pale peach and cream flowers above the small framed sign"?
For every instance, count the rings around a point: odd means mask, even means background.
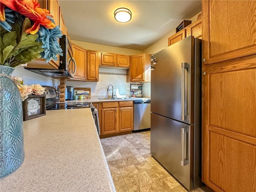
[[[40,84],[23,85],[23,79],[19,76],[12,76],[12,79],[16,82],[19,90],[21,100],[24,101],[30,94],[42,95],[44,94],[45,88]]]

